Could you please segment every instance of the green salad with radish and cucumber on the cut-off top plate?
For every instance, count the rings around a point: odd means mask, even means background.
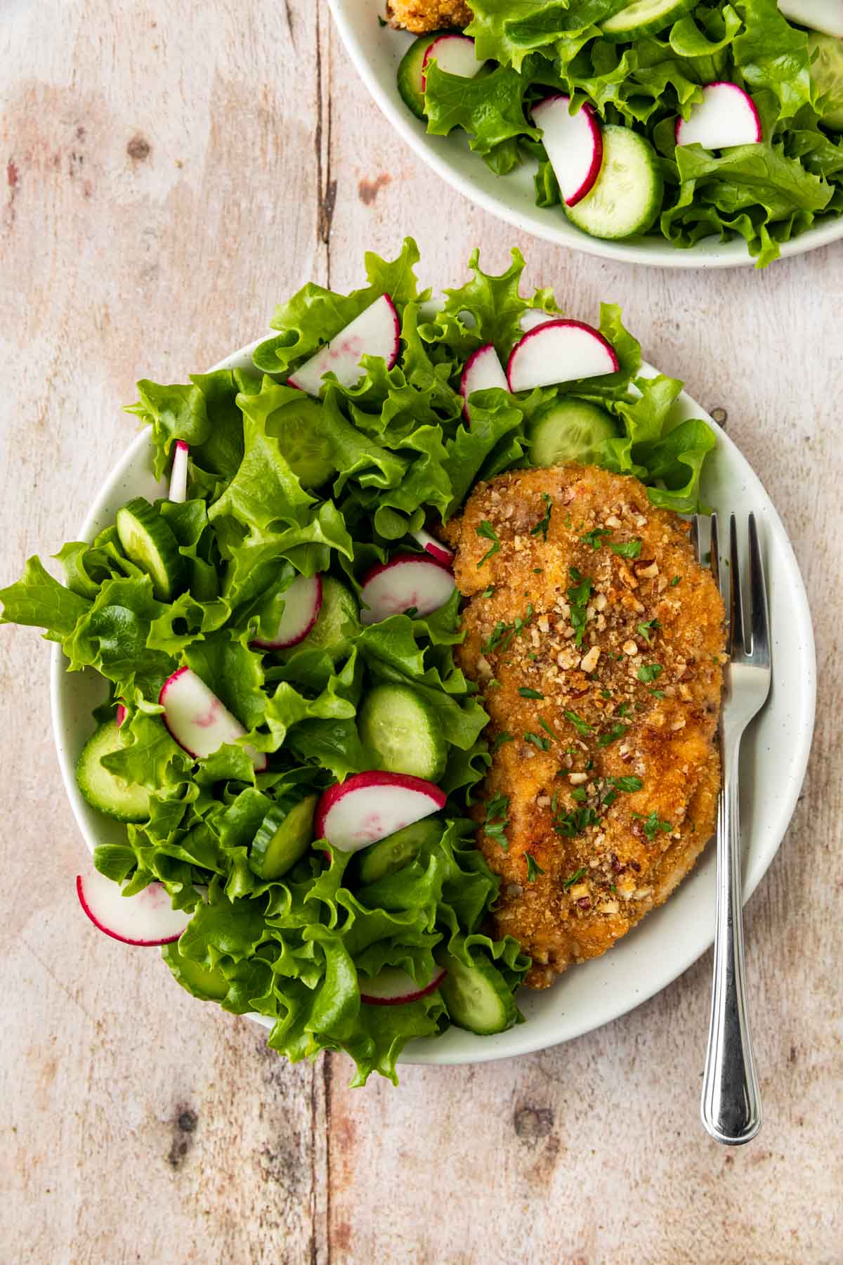
[[[584,233],[680,248],[742,237],[763,267],[843,211],[839,16],[828,34],[789,22],[776,0],[470,8],[463,35],[434,32],[408,49],[406,104],[430,133],[461,128],[499,176],[536,159],[536,205]],[[810,0],[782,9],[829,16]]]

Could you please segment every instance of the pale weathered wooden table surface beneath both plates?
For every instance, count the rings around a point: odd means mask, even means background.
[[[6,0],[0,96],[3,582],[76,536],[136,378],[183,381],[412,233],[434,281],[518,244],[571,312],[619,301],[647,358],[727,411],[820,669],[804,793],[747,915],[766,1122],[727,1150],[698,1122],[710,955],[569,1045],[350,1090],[345,1058],[289,1068],[99,936],[48,646],[3,629],[0,1260],[842,1261],[843,247],[695,273],[514,233],[396,138],[324,0]]]

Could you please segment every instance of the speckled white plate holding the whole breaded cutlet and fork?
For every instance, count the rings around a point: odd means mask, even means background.
[[[214,368],[252,368],[257,345],[252,343]],[[755,511],[767,568],[773,686],[742,751],[746,899],[776,854],[805,775],[814,727],[814,635],[794,552],[757,476],[728,435],[690,396],[682,392],[674,407],[677,421],[704,417],[714,429],[718,447],[705,464],[704,497],[722,512],[734,511],[742,519]],[[162,495],[164,490],[152,473],[152,448],[144,428],[100,490],[80,539],[92,540],[130,497],[152,500]],[[91,808],[75,777],[78,753],[91,734],[91,710],[104,698],[102,678],[91,670],[64,672],[61,648],[53,646],[51,700],[58,762],[73,815],[91,850],[96,844],[119,842],[124,831],[119,822]],[[616,949],[567,972],[550,989],[541,993],[522,989],[519,1003],[526,1023],[490,1037],[450,1028],[436,1040],[411,1042],[399,1061],[484,1063],[569,1041],[624,1015],[676,979],[712,944],[713,926],[714,849],[709,846],[670,901],[648,915]],[[272,1021],[254,1017],[272,1026]]]

